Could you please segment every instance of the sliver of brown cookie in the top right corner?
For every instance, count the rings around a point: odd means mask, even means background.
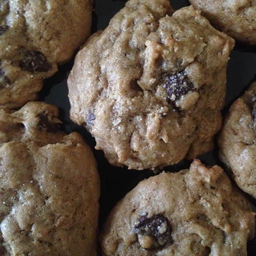
[[[255,0],[189,0],[217,29],[236,40],[256,45]]]

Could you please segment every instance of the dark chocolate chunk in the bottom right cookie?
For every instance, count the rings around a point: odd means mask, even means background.
[[[171,228],[167,218],[159,214],[152,218],[141,216],[134,229],[143,249],[162,249],[172,243]]]

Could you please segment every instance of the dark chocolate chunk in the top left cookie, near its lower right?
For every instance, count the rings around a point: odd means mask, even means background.
[[[31,73],[34,72],[47,72],[51,69],[50,63],[46,57],[37,51],[27,52],[22,60],[19,62],[19,66]]]

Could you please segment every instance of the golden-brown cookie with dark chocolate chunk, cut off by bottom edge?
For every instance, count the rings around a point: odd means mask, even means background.
[[[254,215],[220,166],[141,181],[112,209],[100,234],[103,255],[247,255]]]

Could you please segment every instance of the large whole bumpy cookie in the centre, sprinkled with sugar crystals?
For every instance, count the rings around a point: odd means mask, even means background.
[[[234,40],[193,7],[131,0],[78,52],[71,119],[113,165],[158,168],[212,148]]]

